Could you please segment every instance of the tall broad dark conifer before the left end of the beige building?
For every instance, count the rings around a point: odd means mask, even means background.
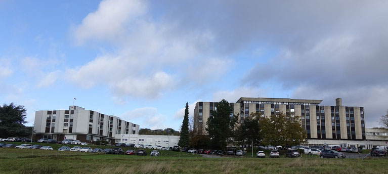
[[[238,121],[238,116],[232,112],[229,102],[222,100],[217,110],[211,111],[213,117],[207,119],[207,128],[210,141],[209,145],[215,148],[225,149],[228,142],[233,138],[233,130]]]

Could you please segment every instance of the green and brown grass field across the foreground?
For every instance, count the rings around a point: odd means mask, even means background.
[[[165,153],[170,154],[116,156],[0,148],[0,173],[388,173],[387,158],[202,158]]]

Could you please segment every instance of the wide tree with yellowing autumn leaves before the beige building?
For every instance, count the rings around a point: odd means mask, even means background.
[[[261,117],[260,126],[263,145],[300,145],[305,143],[307,135],[300,125],[300,117],[284,115],[271,115],[269,118]]]

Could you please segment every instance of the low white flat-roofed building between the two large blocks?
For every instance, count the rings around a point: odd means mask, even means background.
[[[180,136],[160,136],[160,135],[137,135],[122,134],[121,139],[116,139],[116,143],[133,143],[143,145],[160,145],[163,147],[178,146]]]

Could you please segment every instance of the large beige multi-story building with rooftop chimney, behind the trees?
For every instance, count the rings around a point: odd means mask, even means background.
[[[283,113],[300,116],[310,144],[324,144],[328,140],[366,140],[364,107],[342,106],[342,99],[335,99],[335,106],[320,106],[322,100],[245,98],[229,103],[231,116],[239,114],[239,122],[251,113],[259,112],[269,117]],[[218,102],[197,102],[194,108],[194,130],[206,134],[206,121]]]

